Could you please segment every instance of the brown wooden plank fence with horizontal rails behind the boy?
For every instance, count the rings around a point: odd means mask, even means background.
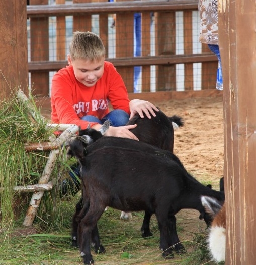
[[[56,0],[56,5],[47,5],[48,0],[30,0],[27,17],[30,22],[30,55],[28,69],[31,73],[33,93],[49,95],[51,71],[58,71],[67,65],[66,61],[66,22],[72,17],[74,31],[92,31],[92,17],[99,16],[99,35],[109,54],[109,15],[116,16],[115,57],[107,56],[124,79],[128,92],[133,92],[134,66],[141,66],[141,91],[150,92],[152,68],[155,66],[155,90],[177,90],[176,65],[184,65],[184,90],[194,91],[193,64],[201,64],[200,89],[215,89],[217,58],[207,45],[202,45],[201,53],[193,53],[193,16],[198,10],[197,0],[173,1],[122,1],[114,3],[107,0]],[[45,4],[45,5],[44,5]],[[176,13],[183,12],[183,54],[176,53]],[[141,12],[142,54],[133,55],[134,12]],[[154,38],[152,39],[151,19],[154,14]],[[49,20],[56,18],[56,60],[49,60]],[[181,27],[181,26],[180,26]],[[199,32],[198,32],[199,34]],[[47,40],[47,41],[46,41]],[[151,42],[154,41],[155,53],[151,55]]]

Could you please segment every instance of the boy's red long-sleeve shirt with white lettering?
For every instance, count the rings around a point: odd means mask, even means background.
[[[53,123],[76,124],[86,129],[85,115],[102,119],[113,109],[130,114],[129,98],[123,79],[112,63],[104,62],[103,76],[95,86],[87,87],[76,80],[72,66],[60,69],[52,79],[51,120]],[[90,123],[91,126],[96,123]]]

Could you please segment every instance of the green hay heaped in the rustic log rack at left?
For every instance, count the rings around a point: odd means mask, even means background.
[[[37,184],[42,174],[49,152],[27,152],[24,145],[29,142],[49,141],[52,131],[46,129],[46,122],[36,108],[30,96],[27,102],[17,97],[18,91],[12,91],[9,98],[0,101],[0,224],[14,224],[17,214],[21,218],[26,213],[31,193],[15,192],[14,186]],[[33,105],[36,114],[31,115]],[[58,163],[62,163],[59,159]],[[63,162],[64,163],[64,162]],[[63,165],[55,167],[52,174],[58,176]],[[45,192],[38,213],[49,214],[53,208],[50,192]],[[17,208],[19,208],[17,212]]]

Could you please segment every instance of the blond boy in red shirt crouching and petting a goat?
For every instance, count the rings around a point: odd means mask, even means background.
[[[54,123],[76,124],[99,130],[110,121],[106,136],[138,140],[125,126],[136,113],[151,118],[157,108],[150,102],[129,100],[125,84],[112,63],[105,61],[102,40],[92,32],[75,32],[67,56],[68,66],[52,79],[51,119]],[[109,111],[111,103],[113,111]],[[143,114],[144,113],[144,114]]]

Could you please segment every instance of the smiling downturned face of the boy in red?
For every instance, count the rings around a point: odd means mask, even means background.
[[[104,57],[94,62],[83,59],[71,60],[70,56],[67,56],[68,64],[73,66],[75,78],[87,87],[94,86],[102,77],[104,72],[104,60]]]

